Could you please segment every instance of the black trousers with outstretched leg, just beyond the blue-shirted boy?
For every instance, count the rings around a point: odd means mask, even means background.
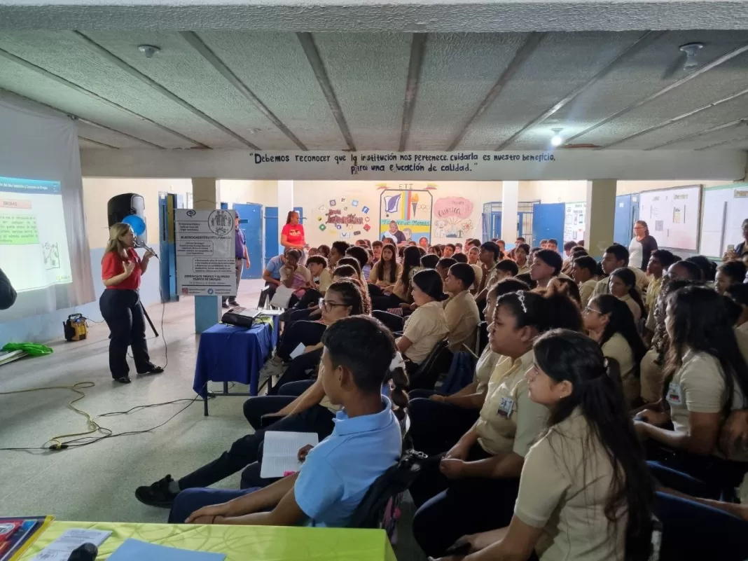
[[[248,420],[251,418],[250,422],[253,423],[253,426],[254,423],[259,426],[260,417],[263,414],[275,413],[292,402],[293,399],[291,396],[254,397],[245,403],[245,416],[248,417]],[[253,402],[253,405],[248,405],[250,402]],[[248,408],[251,408],[250,414],[247,413]],[[256,430],[252,435],[243,436],[234,441],[230,449],[217,459],[180,479],[180,490],[192,487],[209,487],[239,470],[245,470],[245,468],[249,469],[248,473],[242,474],[242,487],[263,486],[261,484],[257,485],[261,483],[258,481],[260,470],[259,465],[254,464],[255,462],[259,463],[262,458],[262,444],[267,431],[316,432],[319,440],[322,440],[332,432],[333,417],[334,415],[329,409],[322,407],[322,405],[314,405],[300,414],[283,417],[267,429]]]

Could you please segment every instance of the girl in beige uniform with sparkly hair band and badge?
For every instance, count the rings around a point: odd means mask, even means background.
[[[479,419],[410,488],[420,507],[413,534],[426,554],[444,554],[466,533],[509,524],[524,456],[548,417],[527,393],[533,340],[560,326],[582,328],[579,309],[566,296],[511,292],[497,299],[488,337],[503,357],[488,381]]]

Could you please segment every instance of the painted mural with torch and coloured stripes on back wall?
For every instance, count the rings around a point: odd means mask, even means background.
[[[431,245],[432,206],[432,194],[426,189],[384,189],[379,195],[378,239]]]

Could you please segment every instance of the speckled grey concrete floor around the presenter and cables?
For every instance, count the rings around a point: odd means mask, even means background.
[[[248,307],[256,304],[262,287],[262,281],[242,281],[239,303]],[[161,375],[135,375],[130,359],[132,384],[114,384],[108,370],[109,333],[105,324],[91,324],[88,340],[49,343],[55,350],[52,355],[0,367],[0,447],[42,447],[50,444],[47,440],[53,435],[88,430],[85,417],[68,407],[77,397],[70,390],[3,392],[92,381],[96,385],[84,390],[85,398],[76,406],[115,433],[150,429],[183,408],[187,402],[96,418],[136,405],[194,398],[192,378],[198,337],[193,332],[192,298],[165,306],[156,304],[148,308],[148,313],[162,333],[162,337],[154,337],[148,332],[154,364],[165,364],[168,344],[168,366]],[[220,390],[221,384],[212,387]],[[237,384],[236,390],[247,388]],[[139,503],[135,488],[167,473],[178,478],[215,459],[236,438],[251,431],[242,415],[244,399],[212,399],[209,417],[203,417],[198,399],[153,432],[107,438],[78,449],[0,450],[0,516],[52,514],[67,521],[165,522],[168,512]],[[239,488],[239,473],[216,486]],[[413,505],[405,503],[402,511],[397,557],[400,561],[425,560],[410,532]]]

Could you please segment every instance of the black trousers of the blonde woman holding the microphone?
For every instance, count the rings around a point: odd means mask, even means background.
[[[153,368],[145,342],[145,316],[137,290],[106,289],[99,298],[99,310],[111,331],[109,370],[114,379],[129,374],[127,347],[132,347],[135,370],[147,373]]]

